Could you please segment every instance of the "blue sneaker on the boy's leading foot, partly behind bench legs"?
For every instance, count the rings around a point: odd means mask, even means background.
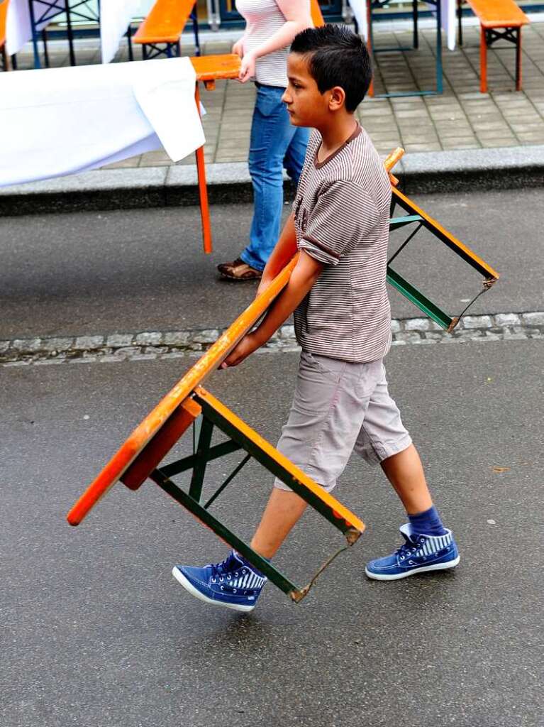
[[[216,566],[174,566],[172,575],[200,601],[235,611],[253,611],[267,582],[267,578],[234,550]]]

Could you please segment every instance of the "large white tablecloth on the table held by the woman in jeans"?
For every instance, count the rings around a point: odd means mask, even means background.
[[[188,58],[0,73],[0,186],[205,142]]]

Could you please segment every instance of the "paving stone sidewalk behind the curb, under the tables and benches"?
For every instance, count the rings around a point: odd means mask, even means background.
[[[532,24],[523,31],[523,91],[515,91],[512,44],[495,45],[488,51],[490,92],[479,92],[479,26],[464,24],[463,47],[444,49],[444,93],[437,96],[367,99],[359,119],[385,155],[402,146],[407,153],[477,148],[503,148],[544,144],[544,13],[533,14]],[[540,21],[540,22],[539,22]],[[374,44],[406,47],[411,31],[405,25],[376,25]],[[233,33],[227,39],[210,39],[206,34],[203,52],[230,52]],[[190,36],[184,55],[192,55]],[[375,91],[407,92],[434,87],[435,31],[423,26],[420,49],[411,52],[381,52],[375,56]],[[89,47],[87,47],[89,46]],[[96,42],[78,48],[78,63],[99,63]],[[136,54],[139,50],[136,50]],[[115,61],[128,60],[124,47]],[[31,67],[32,57],[19,56],[19,68]],[[52,49],[52,65],[66,65],[62,44]],[[251,113],[255,98],[253,84],[219,81],[216,89],[203,92],[206,116],[207,162],[246,161]],[[179,164],[193,164],[189,156]],[[171,166],[166,153],[155,151],[135,156],[107,168]]]

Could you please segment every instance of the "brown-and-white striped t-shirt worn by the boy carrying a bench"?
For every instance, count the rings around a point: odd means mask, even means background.
[[[361,126],[322,162],[320,145],[314,131],[293,212],[299,249],[325,266],[295,311],[296,338],[310,353],[375,361],[391,345],[386,289],[391,184]]]

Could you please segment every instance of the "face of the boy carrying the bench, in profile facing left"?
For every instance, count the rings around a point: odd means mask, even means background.
[[[290,53],[287,59],[288,87],[282,96],[293,126],[319,127],[329,110],[330,92],[321,94],[310,75],[307,57]]]

